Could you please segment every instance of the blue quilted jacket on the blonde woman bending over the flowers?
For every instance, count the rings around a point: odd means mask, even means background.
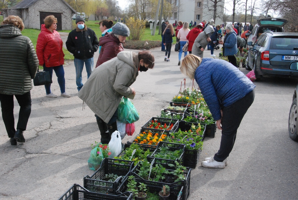
[[[231,63],[203,58],[195,70],[195,81],[214,120],[221,119],[221,107],[229,106],[251,92],[255,85]]]

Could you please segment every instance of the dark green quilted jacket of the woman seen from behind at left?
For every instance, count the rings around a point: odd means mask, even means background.
[[[0,26],[0,94],[29,92],[37,69],[38,59],[30,38],[13,25]]]

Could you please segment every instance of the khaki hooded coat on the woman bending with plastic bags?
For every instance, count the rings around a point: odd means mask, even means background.
[[[77,96],[105,123],[108,123],[119,106],[122,96],[132,94],[139,59],[136,53],[121,51],[117,57],[94,69]]]

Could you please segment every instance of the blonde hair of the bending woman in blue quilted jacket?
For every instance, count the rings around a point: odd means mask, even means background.
[[[190,79],[194,79],[195,70],[201,64],[202,58],[190,54],[184,57],[181,62],[180,71],[183,75],[189,77]]]

